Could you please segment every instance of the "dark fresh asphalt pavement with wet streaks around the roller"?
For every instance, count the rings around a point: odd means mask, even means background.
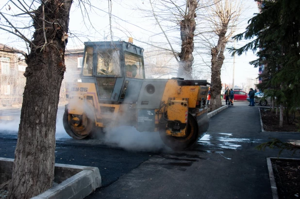
[[[66,138],[56,144],[55,161],[99,167],[103,187],[86,199],[271,199],[266,157],[278,150],[254,147],[269,137],[298,140],[299,134],[261,132],[258,108],[247,105],[235,102],[211,117],[207,134],[188,151],[134,152]],[[0,132],[0,157],[14,158],[15,146],[14,133]]]

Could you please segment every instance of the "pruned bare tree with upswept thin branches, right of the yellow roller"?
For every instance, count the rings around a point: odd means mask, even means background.
[[[217,45],[211,48],[211,111],[221,107],[221,67],[225,56],[224,50],[229,39],[236,30],[238,18],[241,15],[239,0],[214,0],[214,6],[208,8],[210,22],[217,35]]]

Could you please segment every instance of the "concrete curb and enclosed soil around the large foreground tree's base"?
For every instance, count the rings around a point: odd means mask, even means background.
[[[0,161],[6,162],[7,172],[12,172],[14,159],[0,158]],[[98,167],[55,164],[54,173],[58,184],[32,199],[83,199],[101,186]]]

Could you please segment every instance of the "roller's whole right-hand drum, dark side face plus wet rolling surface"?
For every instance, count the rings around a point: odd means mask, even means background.
[[[159,133],[164,143],[174,150],[185,150],[192,148],[197,143],[198,138],[202,137],[208,129],[207,113],[194,117],[188,114],[188,122],[186,126],[186,136],[176,137],[166,134],[166,123],[160,123]]]

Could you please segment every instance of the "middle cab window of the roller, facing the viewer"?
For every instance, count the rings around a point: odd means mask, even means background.
[[[118,49],[97,50],[97,75],[121,77]]]

